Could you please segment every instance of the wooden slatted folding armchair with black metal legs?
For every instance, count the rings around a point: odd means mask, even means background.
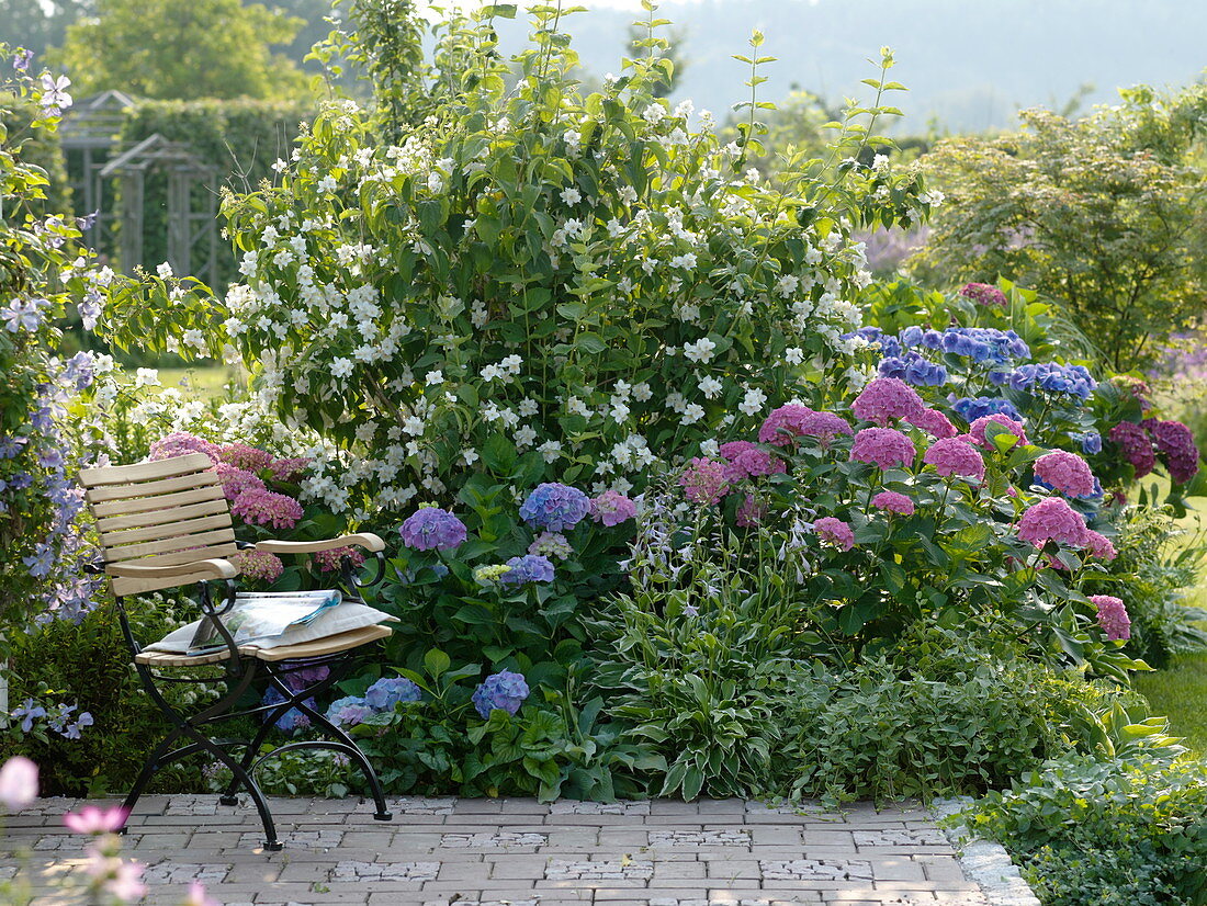
[[[272,554],[313,554],[360,546],[377,555],[378,573],[374,581],[378,581],[384,566],[381,550],[385,543],[375,534],[362,533],[321,542],[266,540],[255,545],[237,544],[229,504],[222,493],[218,477],[212,470],[212,463],[204,454],[188,454],[134,466],[82,469],[80,481],[87,489],[86,499],[97,518],[104,554],[103,571],[110,577],[122,631],[133,653],[135,668],[151,700],[174,726],[147,756],[134,788],[126,797],[127,814],[157,771],[187,755],[208,753],[232,773],[231,785],[218,801],[233,806],[238,802],[238,790],[245,789],[264,825],[264,848],[276,851],[281,848],[281,843],[276,838],[272,813],[252,775],[261,761],[282,752],[327,748],[342,752],[355,761],[368,781],[377,805],[373,817],[383,822],[390,820],[381,784],[365,753],[346,732],[305,703],[307,699],[322,694],[346,672],[357,648],[385,638],[390,630],[374,625],[304,644],[267,649],[246,645],[240,648],[218,619],[234,604],[238,569],[228,557],[240,546],[253,546]],[[211,600],[211,581],[226,585],[221,607],[215,607]],[[122,598],[188,583],[197,583],[202,619],[214,622],[225,648],[214,654],[193,656],[144,651],[134,638]],[[365,583],[357,579],[346,560],[340,584],[344,586],[345,601],[360,602],[358,589]],[[206,678],[159,672],[205,665],[221,665],[223,671]],[[326,679],[303,689],[295,689],[286,682],[291,673],[319,665],[330,668]],[[267,679],[281,694],[282,701],[237,709],[239,700],[257,679]],[[159,683],[221,683],[226,691],[216,702],[193,713],[185,713],[167,701],[157,685]],[[260,748],[273,724],[291,708],[305,714],[311,727],[328,738],[291,742],[261,755]],[[263,718],[260,730],[251,740],[211,738],[203,732],[204,727],[215,721],[249,714]],[[232,748],[244,748],[241,758],[235,760],[229,752]]]

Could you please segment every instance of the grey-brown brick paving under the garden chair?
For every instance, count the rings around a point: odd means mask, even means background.
[[[789,902],[984,906],[944,835],[920,807],[844,813],[740,800],[599,805],[532,800],[391,800],[374,822],[356,800],[273,800],[285,841],[250,807],[216,796],[146,796],[126,852],[146,866],[148,904],[180,904],[205,882],[222,904],[365,906],[776,906]],[[43,800],[7,819],[0,865],[30,848],[41,877],[70,872],[81,838]],[[37,902],[70,902],[62,895]]]

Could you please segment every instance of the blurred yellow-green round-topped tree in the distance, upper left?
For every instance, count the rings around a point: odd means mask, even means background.
[[[270,49],[302,21],[239,0],[98,0],[58,54],[77,95],[117,88],[145,98],[286,98],[305,86]]]

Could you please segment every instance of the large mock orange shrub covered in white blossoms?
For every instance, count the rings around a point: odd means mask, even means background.
[[[648,55],[587,97],[559,7],[533,7],[505,87],[489,25],[513,12],[442,27],[456,89],[422,122],[328,103],[278,185],[225,199],[245,282],[223,329],[266,403],[360,451],[314,479],[337,508],[350,485],[397,509],[483,468],[629,491],[669,451],[748,433],[849,368],[870,279],[851,230],[926,209],[915,176],[856,162],[857,117],[891,109],[852,110],[829,165],[772,187],[711,115],[654,97],[652,8]],[[742,59],[753,90],[770,58]]]

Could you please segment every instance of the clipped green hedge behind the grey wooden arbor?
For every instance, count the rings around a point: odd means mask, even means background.
[[[311,105],[299,101],[144,100],[127,111],[121,140],[129,146],[158,133],[169,141],[187,144],[218,174],[214,185],[196,189],[194,205],[199,205],[204,193],[216,193],[222,185],[247,191],[272,179],[273,163],[288,157],[299,124],[311,115]],[[142,242],[148,269],[168,257],[167,192],[168,180],[162,173],[147,174]],[[223,288],[235,274],[234,253],[220,241],[215,288]]]

